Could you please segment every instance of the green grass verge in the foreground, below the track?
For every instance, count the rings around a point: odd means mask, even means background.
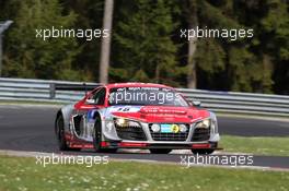
[[[254,190],[285,191],[289,172],[109,162],[94,165],[36,165],[35,158],[0,156],[0,190]]]

